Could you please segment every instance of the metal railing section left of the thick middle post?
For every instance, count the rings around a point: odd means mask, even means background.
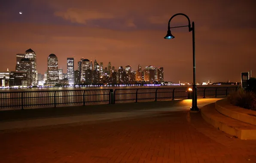
[[[113,89],[73,91],[0,92],[0,108],[62,106],[86,103],[111,103]]]

